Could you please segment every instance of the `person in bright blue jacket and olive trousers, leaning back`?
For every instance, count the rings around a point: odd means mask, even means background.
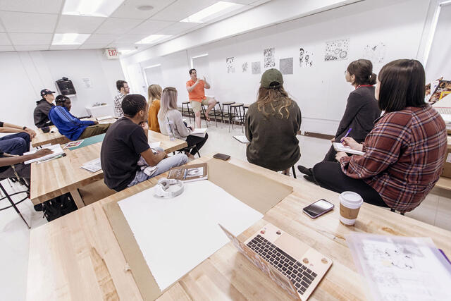
[[[58,95],[56,106],[49,111],[49,118],[58,128],[59,133],[65,135],[70,140],[80,140],[95,135],[106,133],[110,123],[99,124],[97,121],[80,121],[79,118],[69,113],[72,103],[70,98]]]

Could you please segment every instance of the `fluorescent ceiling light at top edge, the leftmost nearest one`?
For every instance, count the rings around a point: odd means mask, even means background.
[[[124,0],[66,0],[63,15],[109,17]]]

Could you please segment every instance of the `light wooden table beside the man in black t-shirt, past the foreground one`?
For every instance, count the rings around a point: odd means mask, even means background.
[[[175,139],[169,140],[168,136],[149,130],[149,142],[161,141],[166,153],[175,152],[187,146],[186,141]],[[91,173],[80,168],[87,161],[99,158],[101,142],[87,145],[78,149],[64,149],[66,156],[62,158],[43,162],[32,163],[30,199],[33,204],[39,204],[48,199],[58,197],[70,192],[77,207],[85,206],[79,188],[89,183],[104,178],[103,171]]]

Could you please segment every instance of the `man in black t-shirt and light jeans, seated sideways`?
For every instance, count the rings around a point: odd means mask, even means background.
[[[105,184],[110,189],[121,191],[187,163],[185,154],[168,157],[161,147],[149,147],[149,108],[142,95],[129,94],[124,97],[122,109],[124,117],[111,125],[101,145],[101,168]],[[138,164],[138,161],[143,161],[145,166]]]

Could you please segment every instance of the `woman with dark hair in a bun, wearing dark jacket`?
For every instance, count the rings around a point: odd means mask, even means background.
[[[345,113],[343,114],[337,133],[331,140],[340,142],[349,131],[347,137],[352,137],[357,142],[364,142],[366,135],[373,129],[374,121],[381,116],[381,109],[374,98],[374,84],[376,74],[373,73],[373,64],[366,59],[352,61],[345,70],[345,80],[350,82],[354,91],[347,98]],[[323,161],[335,161],[335,149],[330,146]],[[309,181],[313,181],[311,168],[302,165],[297,166]]]

